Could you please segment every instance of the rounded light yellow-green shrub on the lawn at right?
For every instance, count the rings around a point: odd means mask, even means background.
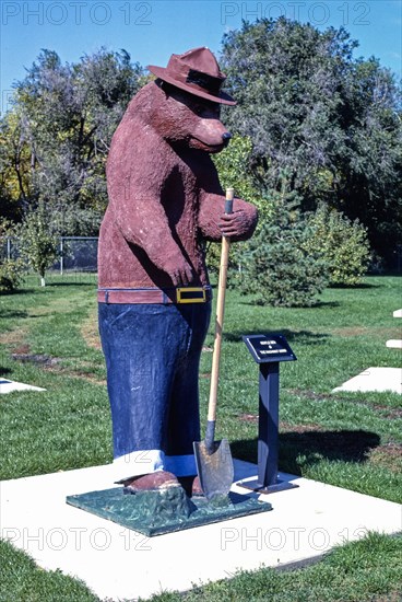
[[[330,285],[354,286],[362,281],[370,261],[366,229],[358,220],[351,221],[343,213],[319,205],[311,213],[314,229],[307,250],[320,248],[329,266]]]

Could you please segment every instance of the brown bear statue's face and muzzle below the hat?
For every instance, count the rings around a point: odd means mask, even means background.
[[[220,119],[220,104],[194,96],[172,85],[155,85],[156,94],[163,94],[154,104],[152,126],[169,142],[191,149],[216,153],[230,139],[230,134]]]

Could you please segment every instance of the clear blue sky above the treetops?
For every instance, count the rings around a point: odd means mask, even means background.
[[[319,28],[344,25],[359,42],[355,56],[378,57],[401,79],[402,0],[2,0],[1,114],[12,82],[24,78],[42,48],[64,62],[106,46],[125,48],[142,66],[166,66],[173,53],[209,46],[217,53],[225,32],[241,19],[284,14]]]

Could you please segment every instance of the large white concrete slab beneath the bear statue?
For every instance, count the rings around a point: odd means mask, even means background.
[[[246,462],[235,470],[236,479],[256,476]],[[318,557],[368,530],[402,530],[398,503],[281,474],[299,488],[261,496],[270,512],[146,539],[66,503],[67,495],[109,488],[110,475],[97,466],[1,482],[1,536],[43,568],[83,579],[100,599],[130,600]]]

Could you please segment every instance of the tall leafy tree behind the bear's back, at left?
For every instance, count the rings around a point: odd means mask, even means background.
[[[142,72],[125,50],[102,49],[76,65],[42,51],[16,84],[14,106],[2,123],[8,149],[2,174],[9,186],[16,181],[22,213],[42,201],[59,234],[97,233],[107,204],[110,139]]]

